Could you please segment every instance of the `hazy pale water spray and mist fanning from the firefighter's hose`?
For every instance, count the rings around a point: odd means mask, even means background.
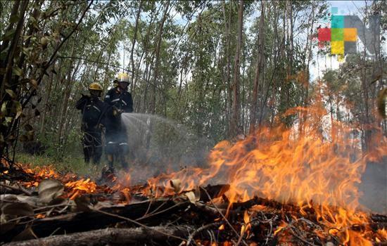
[[[133,182],[186,166],[203,167],[212,148],[207,139],[158,115],[124,113],[122,123],[127,130]]]

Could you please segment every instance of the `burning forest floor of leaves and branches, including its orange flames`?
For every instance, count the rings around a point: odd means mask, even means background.
[[[24,166],[23,175],[8,179],[18,183],[1,183],[3,242],[27,226],[42,240],[140,227],[153,238],[139,233],[139,242],[155,245],[160,238],[182,245],[385,244],[387,216],[361,209],[358,184],[370,155],[383,160],[387,145],[357,156],[350,127],[336,122],[337,137],[324,139],[318,122],[326,112],[316,107],[306,113],[302,131],[262,128],[234,145],[222,141],[208,156],[207,168],[161,174],[145,185],[134,186],[130,171],[98,185],[52,167]],[[10,177],[11,170],[1,175]]]

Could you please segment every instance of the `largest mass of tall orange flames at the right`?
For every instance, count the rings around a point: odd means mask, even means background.
[[[367,158],[386,155],[387,145],[379,146],[376,153],[359,156],[360,143],[352,134],[353,128],[332,119],[324,123],[329,115],[321,103],[286,114],[300,113],[306,115],[302,125],[290,129],[282,125],[262,127],[234,145],[221,141],[208,156],[208,168],[163,174],[150,179],[149,186],[153,190],[170,187],[167,181],[171,179],[182,181],[182,190],[206,183],[228,183],[230,189],[225,195],[230,202],[258,195],[293,203],[301,207],[301,214],[307,215],[312,209],[317,221],[326,228],[336,228],[344,244],[369,245],[366,232],[370,228],[350,228],[368,224],[367,214],[358,211],[362,194],[357,185]],[[378,141],[386,142],[386,138]],[[156,195],[172,195],[172,191],[166,188]],[[279,231],[281,227],[275,233]]]

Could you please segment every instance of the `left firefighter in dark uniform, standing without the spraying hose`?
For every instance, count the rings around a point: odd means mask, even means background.
[[[107,105],[100,100],[102,86],[91,83],[89,86],[90,96],[83,95],[77,101],[75,107],[82,112],[82,138],[84,162],[89,163],[92,159],[94,164],[99,164],[102,155],[102,127],[103,117]]]

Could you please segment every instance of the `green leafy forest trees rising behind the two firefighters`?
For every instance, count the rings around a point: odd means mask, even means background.
[[[10,153],[17,139],[26,141],[33,136],[48,146],[47,155],[58,162],[68,155],[81,156],[80,113],[75,102],[91,82],[100,82],[107,91],[123,70],[134,76],[130,91],[135,112],[156,112],[181,124],[197,139],[207,140],[189,148],[210,148],[231,137],[238,2],[96,1],[89,6],[85,1],[30,1],[25,8],[23,2],[16,6],[16,1],[0,1],[2,153]],[[328,4],[264,4],[263,33],[259,27],[262,2],[245,1],[243,6],[238,75],[243,134],[251,127],[252,114],[257,119],[254,124],[274,124],[277,116],[307,105],[310,95],[317,93],[309,81],[313,53],[310,56],[307,51],[316,45],[310,37],[316,34],[317,20],[326,15]],[[384,13],[385,5],[376,1],[371,10]],[[382,18],[382,29],[384,22]],[[262,73],[258,99],[253,101],[262,35]],[[364,119],[364,97],[374,98],[381,86],[377,82],[367,87],[364,81],[374,81],[385,70],[386,65],[380,65],[382,56],[367,62],[360,56],[348,56],[340,70],[326,71],[322,79],[330,93],[326,103],[338,117],[343,115],[341,103],[353,101],[350,118]],[[365,71],[365,78],[360,71]],[[257,105],[256,112],[250,112],[251,105]],[[291,126],[297,119],[293,115],[283,122]],[[32,129],[20,128],[23,125]],[[177,137],[172,132],[165,134],[163,127],[158,131],[164,133],[159,134],[163,138],[151,140],[153,143],[172,143]]]

